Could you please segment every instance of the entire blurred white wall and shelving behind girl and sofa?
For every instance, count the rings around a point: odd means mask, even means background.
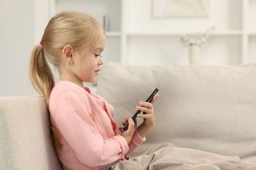
[[[104,62],[243,65],[256,62],[255,0],[0,0],[0,95],[35,95],[30,53],[49,19],[80,10],[106,30]]]

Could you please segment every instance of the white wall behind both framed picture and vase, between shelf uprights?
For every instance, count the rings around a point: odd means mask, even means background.
[[[182,44],[181,35],[200,35],[214,26],[215,35],[211,34],[202,47],[202,64],[240,65],[243,51],[242,1],[212,0],[207,18],[153,18],[151,0],[130,0],[127,3],[127,63],[187,64],[189,50]]]

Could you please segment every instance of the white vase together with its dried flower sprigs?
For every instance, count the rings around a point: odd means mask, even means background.
[[[209,33],[215,30],[215,27],[209,27],[205,33],[198,37],[181,36],[181,42],[189,48],[189,62],[192,64],[202,63],[201,47],[209,38]]]

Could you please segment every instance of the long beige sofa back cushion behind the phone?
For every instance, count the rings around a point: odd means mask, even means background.
[[[169,142],[256,161],[256,65],[106,63],[97,93],[114,106],[121,124],[156,87],[156,125],[133,155]]]

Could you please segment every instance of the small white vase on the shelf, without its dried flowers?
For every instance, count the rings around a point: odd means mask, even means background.
[[[191,44],[189,46],[189,62],[191,64],[201,64],[202,63],[202,55],[200,46]]]

